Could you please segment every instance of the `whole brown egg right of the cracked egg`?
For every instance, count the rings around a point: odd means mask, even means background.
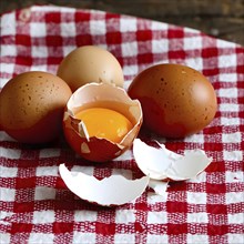
[[[143,124],[159,135],[183,138],[204,129],[217,102],[211,82],[179,64],[157,64],[139,73],[128,91],[141,102]]]

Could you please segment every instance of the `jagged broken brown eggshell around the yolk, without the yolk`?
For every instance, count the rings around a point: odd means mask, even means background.
[[[90,108],[114,110],[123,114],[133,128],[119,143],[90,136],[83,121],[75,119],[75,113]],[[113,160],[131,148],[141,125],[140,102],[130,99],[124,89],[104,83],[89,83],[79,88],[68,101],[63,115],[63,130],[68,143],[79,155],[94,162]]]

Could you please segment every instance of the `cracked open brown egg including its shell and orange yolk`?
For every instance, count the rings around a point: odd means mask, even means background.
[[[105,162],[131,148],[142,124],[142,109],[125,90],[89,83],[70,98],[63,116],[64,135],[82,157]]]

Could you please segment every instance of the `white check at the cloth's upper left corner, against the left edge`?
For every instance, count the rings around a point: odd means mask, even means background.
[[[16,13],[3,14],[0,21],[1,37],[16,34]]]

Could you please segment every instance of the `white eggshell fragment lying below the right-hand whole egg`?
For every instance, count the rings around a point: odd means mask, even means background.
[[[140,170],[154,180],[184,181],[196,176],[212,162],[204,151],[193,150],[180,155],[157,142],[159,149],[135,139],[133,154]]]

